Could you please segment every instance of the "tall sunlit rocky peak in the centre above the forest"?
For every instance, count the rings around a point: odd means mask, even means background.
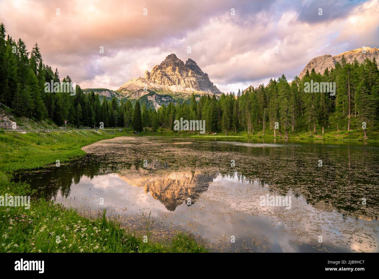
[[[175,54],[170,54],[161,64],[146,71],[144,77],[133,78],[117,91],[158,89],[172,92],[208,92],[221,94],[196,62],[188,59],[184,64]]]

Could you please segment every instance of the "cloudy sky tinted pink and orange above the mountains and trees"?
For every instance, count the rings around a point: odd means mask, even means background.
[[[0,0],[0,6],[10,36],[28,50],[37,42],[44,63],[82,88],[117,89],[175,53],[196,61],[221,91],[237,91],[283,73],[291,80],[317,56],[379,47],[379,0]]]

